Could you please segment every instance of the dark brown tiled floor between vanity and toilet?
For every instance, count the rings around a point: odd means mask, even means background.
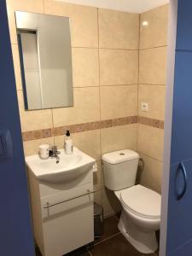
[[[158,256],[159,253],[143,254],[126,241],[125,237],[119,233],[117,228],[119,218],[112,216],[104,219],[104,234],[102,237],[94,241],[89,248],[80,248],[66,256]],[[36,253],[41,256],[41,253]]]

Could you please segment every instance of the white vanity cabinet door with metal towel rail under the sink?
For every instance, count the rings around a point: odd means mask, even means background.
[[[93,183],[41,199],[42,208],[49,205],[42,211],[46,256],[63,255],[94,241],[94,199],[89,191]]]

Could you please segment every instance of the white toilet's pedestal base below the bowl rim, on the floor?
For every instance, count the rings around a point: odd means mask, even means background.
[[[158,248],[155,232],[143,232],[131,223],[123,210],[118,224],[119,231],[140,253],[154,253]]]

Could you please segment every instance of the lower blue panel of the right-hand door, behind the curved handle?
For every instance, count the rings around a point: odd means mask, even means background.
[[[182,166],[179,166],[179,163],[173,165],[170,172],[166,255],[176,251],[192,239],[192,159],[182,162],[186,172],[186,183]],[[185,185],[186,192],[179,200],[178,196],[184,192]],[[192,255],[192,249],[190,253]]]

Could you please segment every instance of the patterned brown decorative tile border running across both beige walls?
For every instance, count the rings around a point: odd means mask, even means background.
[[[66,133],[67,130],[71,131],[72,133],[82,132],[82,131],[93,131],[99,130],[114,126],[120,125],[131,125],[131,124],[143,124],[149,125],[155,128],[164,129],[164,121],[158,119],[149,119],[141,116],[129,116],[119,119],[108,119],[108,120],[101,120],[96,122],[84,123],[79,125],[66,125],[55,127],[52,129],[44,129],[44,130],[37,130],[37,131],[25,131],[22,133],[22,138],[24,142],[38,140],[46,137],[56,137],[62,136]]]

